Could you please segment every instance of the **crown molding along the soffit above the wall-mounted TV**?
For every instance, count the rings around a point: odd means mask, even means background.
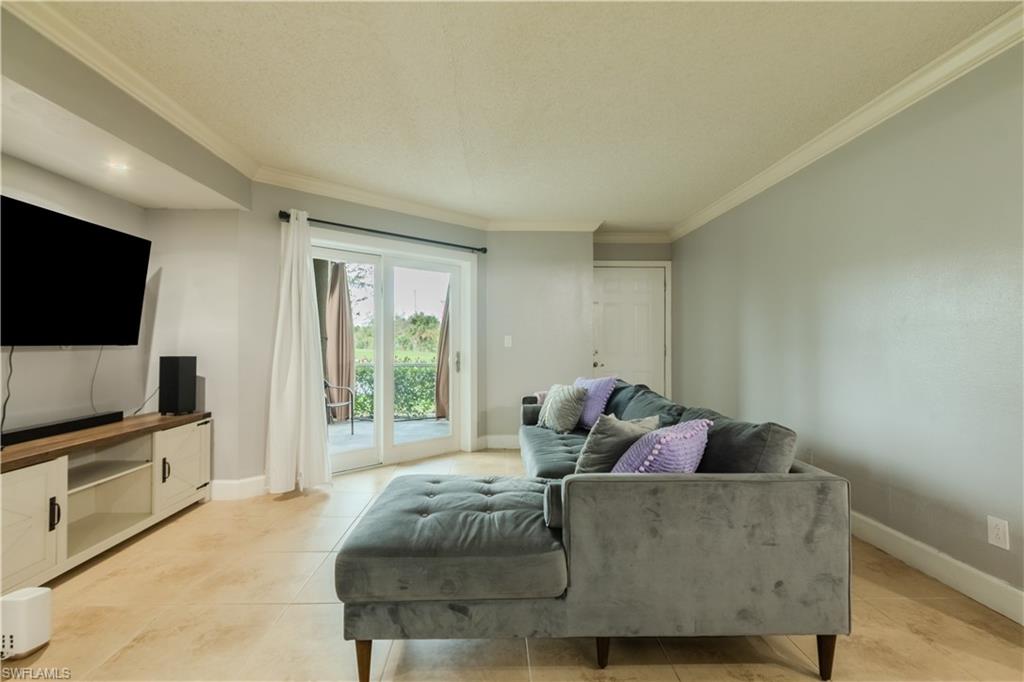
[[[242,147],[215,133],[138,72],[69,22],[49,3],[5,2],[3,8],[142,102],[246,177],[251,178],[256,172],[259,164]]]

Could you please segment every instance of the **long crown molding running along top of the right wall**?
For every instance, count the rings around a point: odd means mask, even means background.
[[[961,76],[1021,42],[1024,38],[1024,8],[1020,5],[949,51],[925,65],[895,86],[856,110],[792,154],[769,166],[750,180],[697,211],[671,232],[677,240],[714,220],[775,185],[797,171],[867,132]]]

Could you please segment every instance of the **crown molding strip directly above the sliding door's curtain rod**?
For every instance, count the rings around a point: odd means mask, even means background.
[[[279,187],[306,191],[311,195],[340,199],[345,202],[352,202],[353,204],[372,206],[374,208],[384,209],[385,211],[395,211],[396,213],[415,215],[421,218],[429,218],[430,220],[439,220],[440,222],[465,225],[466,227],[473,227],[474,229],[485,230],[487,229],[488,224],[485,218],[481,218],[477,215],[460,213],[458,211],[449,211],[446,209],[429,206],[427,204],[420,204],[418,202],[408,201],[404,199],[396,199],[394,197],[388,197],[387,195],[380,195],[374,191],[367,191],[366,189],[358,189],[339,182],[321,180],[315,177],[300,175],[299,173],[292,173],[291,171],[272,168],[270,166],[261,166],[253,175],[253,180],[256,182],[273,184]]]

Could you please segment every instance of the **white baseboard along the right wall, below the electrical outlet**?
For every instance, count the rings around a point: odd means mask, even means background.
[[[931,545],[905,536],[859,512],[851,513],[853,535],[977,602],[1024,625],[1024,590],[969,566]]]

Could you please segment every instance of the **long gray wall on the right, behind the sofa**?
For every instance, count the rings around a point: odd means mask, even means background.
[[[1022,48],[674,245],[685,404],[800,434],[854,508],[1021,587]],[[1010,520],[1012,551],[987,544]]]

